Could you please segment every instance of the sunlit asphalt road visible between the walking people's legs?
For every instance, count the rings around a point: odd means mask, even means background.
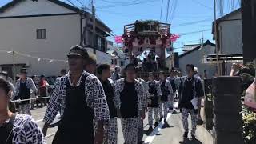
[[[42,118],[44,117],[46,107],[32,110],[32,117],[38,122],[38,126],[42,128],[43,122]],[[178,110],[177,110],[178,111]],[[154,129],[150,134],[144,134],[144,141],[146,144],[178,144],[182,142],[182,120],[181,114],[168,114],[168,124],[169,126],[164,126],[163,122],[160,122],[159,125]],[[56,120],[57,121],[57,120]],[[148,129],[148,120],[147,114],[146,119],[144,120],[144,130]],[[57,127],[50,128],[46,135],[46,142],[50,144],[54,138],[54,134],[58,130]],[[146,133],[146,131],[145,131]],[[212,144],[213,138],[211,134],[204,129],[203,126],[198,126],[196,133],[198,142],[185,142],[186,144]],[[123,144],[123,136],[121,129],[121,122],[118,119],[118,144]]]

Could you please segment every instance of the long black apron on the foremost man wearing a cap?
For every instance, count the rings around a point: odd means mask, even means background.
[[[94,144],[94,110],[86,103],[85,79],[80,86],[66,82],[66,107],[54,144]]]

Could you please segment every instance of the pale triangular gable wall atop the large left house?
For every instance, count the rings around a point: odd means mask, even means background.
[[[14,7],[10,7],[10,9],[6,10],[4,13],[0,13],[0,17],[64,13],[74,13],[74,11],[58,6],[48,0],[38,0],[38,2],[25,0],[18,2]]]

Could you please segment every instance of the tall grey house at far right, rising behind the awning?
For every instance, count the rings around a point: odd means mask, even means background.
[[[213,31],[215,40],[215,29]],[[242,14],[241,9],[234,10],[217,19],[217,45],[219,54],[242,54]],[[229,74],[231,62],[221,62],[221,73]]]

